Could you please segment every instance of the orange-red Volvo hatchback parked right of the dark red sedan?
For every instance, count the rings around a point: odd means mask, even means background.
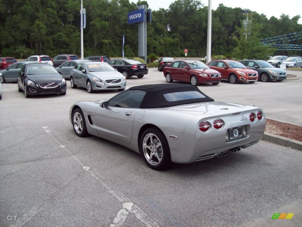
[[[239,61],[217,60],[210,61],[207,65],[221,73],[221,80],[227,80],[231,84],[237,82],[255,83],[258,80],[257,71],[247,68]]]

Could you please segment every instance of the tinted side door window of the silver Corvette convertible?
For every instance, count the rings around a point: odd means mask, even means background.
[[[142,90],[126,90],[109,100],[109,107],[140,108],[146,94]]]

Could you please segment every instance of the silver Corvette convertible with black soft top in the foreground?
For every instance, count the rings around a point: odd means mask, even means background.
[[[131,87],[69,111],[77,136],[95,135],[141,153],[156,170],[225,156],[261,140],[263,110],[217,102],[190,84]]]

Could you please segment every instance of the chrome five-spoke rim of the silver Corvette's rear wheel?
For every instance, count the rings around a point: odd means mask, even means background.
[[[146,160],[153,166],[158,165],[162,161],[162,144],[155,134],[148,133],[144,137],[143,153]]]

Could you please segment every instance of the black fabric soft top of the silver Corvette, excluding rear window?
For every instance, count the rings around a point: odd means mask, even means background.
[[[191,84],[147,84],[130,87],[128,90],[143,90],[146,94],[141,102],[140,108],[162,108],[172,107],[183,104],[199,103],[214,101],[214,99],[208,97],[201,92],[198,87]],[[168,101],[164,95],[175,92],[183,91],[197,91],[201,93],[203,98],[184,99],[177,101]]]

